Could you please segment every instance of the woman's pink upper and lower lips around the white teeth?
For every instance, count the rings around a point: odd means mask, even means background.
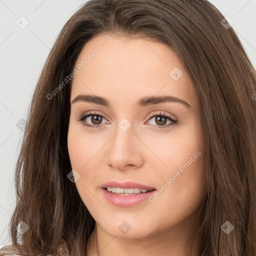
[[[154,187],[149,187],[149,186],[132,182],[132,181],[126,181],[122,183],[118,181],[110,181],[110,182],[104,183],[101,187],[102,187],[102,193],[104,197],[113,205],[120,206],[120,207],[130,207],[130,206],[136,205],[146,200],[155,192]],[[108,192],[106,190],[106,187],[144,188],[151,191],[148,191],[145,193],[141,192],[141,193],[131,194],[131,195],[120,195],[120,194],[114,194],[112,192]]]

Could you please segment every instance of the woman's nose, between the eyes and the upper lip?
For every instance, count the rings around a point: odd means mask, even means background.
[[[143,143],[134,133],[132,125],[126,131],[117,126],[107,147],[106,163],[114,169],[135,169],[143,164]]]

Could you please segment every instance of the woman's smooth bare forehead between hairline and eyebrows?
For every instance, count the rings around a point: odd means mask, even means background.
[[[135,103],[152,95],[179,97],[192,107],[198,101],[177,54],[150,39],[97,35],[83,46],[75,69],[71,99],[87,93],[107,97],[110,103]]]

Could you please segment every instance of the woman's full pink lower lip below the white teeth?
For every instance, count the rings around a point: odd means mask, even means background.
[[[136,205],[144,200],[146,200],[148,197],[150,197],[154,192],[154,190],[148,191],[146,193],[137,193],[137,194],[131,194],[131,195],[118,195],[114,194],[112,192],[108,192],[106,189],[102,188],[103,195],[105,198],[111,202],[112,204],[120,207],[130,207],[133,205]]]

